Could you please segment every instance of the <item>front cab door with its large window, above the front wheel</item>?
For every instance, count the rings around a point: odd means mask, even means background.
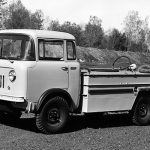
[[[28,98],[32,101],[47,90],[68,90],[68,64],[64,60],[64,40],[38,40],[39,61],[28,71]]]

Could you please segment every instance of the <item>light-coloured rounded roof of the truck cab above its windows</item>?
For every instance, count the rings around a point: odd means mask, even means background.
[[[1,33],[7,34],[25,34],[33,38],[54,38],[54,39],[70,39],[75,40],[75,37],[69,33],[49,31],[49,30],[33,30],[33,29],[9,29],[0,30]]]

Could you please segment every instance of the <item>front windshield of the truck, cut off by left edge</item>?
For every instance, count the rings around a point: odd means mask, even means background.
[[[35,60],[34,44],[26,35],[1,34],[0,59]]]

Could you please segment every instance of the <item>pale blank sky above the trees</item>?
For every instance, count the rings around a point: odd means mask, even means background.
[[[123,21],[129,11],[138,11],[141,18],[150,16],[150,0],[21,0],[35,12],[41,9],[44,16],[60,23],[70,21],[86,24],[90,16],[102,20],[104,30],[123,29]],[[150,24],[150,23],[149,23]]]

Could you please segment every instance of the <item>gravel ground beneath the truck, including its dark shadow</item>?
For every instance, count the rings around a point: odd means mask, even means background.
[[[64,133],[45,135],[34,116],[19,121],[1,118],[0,150],[148,150],[150,126],[135,126],[127,114],[101,119],[74,116]]]

